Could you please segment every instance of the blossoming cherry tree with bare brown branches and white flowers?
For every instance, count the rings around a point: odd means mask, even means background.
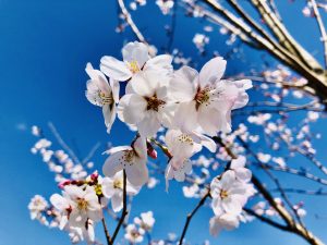
[[[308,0],[303,8],[303,17],[315,19],[322,35],[322,65],[291,36],[274,0],[249,1],[255,16],[240,3],[157,0],[154,4],[172,20],[165,27],[168,44],[159,54],[136,24],[138,9],[153,3],[117,1],[117,32],[132,30],[135,40],[122,46],[122,59],[109,53],[98,66],[86,64],[85,96],[101,108],[105,134],[110,136],[113,123],[124,123],[135,136],[125,146],[108,146],[102,169],[95,169],[92,158],[98,144],[81,160],[52,123],[50,135],[34,126],[38,139],[32,152],[55,173],[59,189],[49,201],[40,195],[32,198],[33,220],[66,232],[72,243],[102,244],[95,232],[102,225],[107,244],[116,244],[121,232],[130,244],[147,238],[148,244],[182,245],[189,244],[193,217],[208,208],[213,236],[257,219],[308,244],[324,244],[304,222],[305,203],[290,194],[326,195],[322,187],[327,168],[314,147],[322,135],[311,126],[324,115],[327,101],[327,35],[320,13],[327,4]],[[195,33],[191,40],[206,60],[201,68],[198,57],[184,57],[173,48],[177,11],[204,24],[205,34]],[[216,25],[221,35],[229,35],[231,51],[226,57],[207,50]],[[229,61],[241,60],[243,44],[280,63],[227,76]],[[62,149],[52,147],[51,137]],[[157,158],[165,159],[165,167],[149,160]],[[301,162],[294,164],[298,159]],[[157,186],[159,175],[165,176],[167,192],[170,182],[181,182],[184,197],[198,203],[181,231],[174,231],[180,233],[153,238],[156,213],[149,210],[132,220],[130,210],[140,192]],[[286,187],[286,175],[312,182],[316,189]],[[108,219],[117,221],[113,231]]]

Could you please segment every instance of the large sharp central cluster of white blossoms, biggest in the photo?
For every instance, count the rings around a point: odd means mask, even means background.
[[[231,110],[244,107],[252,87],[249,79],[221,79],[226,61],[217,57],[198,73],[190,66],[173,71],[172,58],[161,54],[150,58],[148,47],[129,42],[122,49],[123,61],[104,57],[100,71],[87,64],[87,99],[102,108],[108,132],[118,118],[137,128],[131,146],[114,147],[104,173],[113,176],[125,170],[135,186],[148,180],[147,154],[150,140],[160,127],[167,128],[165,143],[169,155],[166,179],[183,181],[192,170],[190,158],[202,147],[216,151],[208,136],[231,131]],[[124,93],[120,82],[126,82]],[[123,96],[119,99],[119,94]]]

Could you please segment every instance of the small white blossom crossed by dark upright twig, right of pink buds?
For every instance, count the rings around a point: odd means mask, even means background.
[[[119,212],[123,208],[123,172],[117,172],[112,177],[104,177],[101,191],[104,196],[111,200],[113,211]],[[140,187],[135,187],[126,181],[128,195],[136,195]]]

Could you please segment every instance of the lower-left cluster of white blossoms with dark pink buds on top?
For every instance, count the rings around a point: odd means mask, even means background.
[[[123,208],[122,171],[112,177],[101,177],[95,172],[84,180],[66,180],[59,186],[62,193],[50,197],[51,206],[44,197],[36,195],[32,198],[28,209],[32,219],[47,226],[66,231],[73,243],[95,243],[95,224],[104,218],[104,209],[110,204],[114,212]],[[126,181],[126,195],[136,195],[138,191],[138,187]],[[154,224],[148,213],[142,215],[137,221],[147,230]]]

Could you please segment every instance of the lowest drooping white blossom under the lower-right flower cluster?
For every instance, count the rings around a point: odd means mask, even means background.
[[[237,216],[231,213],[223,213],[221,216],[213,217],[209,221],[210,234],[217,236],[221,230],[231,231],[239,226],[240,221]]]

